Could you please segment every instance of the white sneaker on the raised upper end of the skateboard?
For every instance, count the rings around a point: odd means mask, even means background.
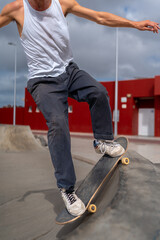
[[[93,145],[96,153],[108,154],[110,157],[118,157],[125,152],[125,149],[116,141],[94,140]]]

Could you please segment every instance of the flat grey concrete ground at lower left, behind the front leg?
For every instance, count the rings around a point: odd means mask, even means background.
[[[75,160],[77,185],[92,165]],[[0,152],[0,239],[56,239],[55,224],[64,207],[53,174],[48,151]]]

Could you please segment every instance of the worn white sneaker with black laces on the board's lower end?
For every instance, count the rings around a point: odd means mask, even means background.
[[[79,216],[85,212],[86,208],[84,203],[81,201],[81,199],[77,197],[74,191],[69,192],[69,191],[66,191],[64,188],[61,188],[60,191],[61,191],[63,201],[65,203],[65,206],[71,215]]]

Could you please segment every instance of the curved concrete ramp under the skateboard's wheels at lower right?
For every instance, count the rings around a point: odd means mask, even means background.
[[[98,211],[62,227],[57,239],[160,240],[159,165],[134,151],[127,156],[130,164],[120,164],[99,195]]]

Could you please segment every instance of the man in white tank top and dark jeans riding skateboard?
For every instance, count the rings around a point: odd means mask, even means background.
[[[28,91],[43,113],[49,131],[48,146],[57,186],[68,211],[84,212],[76,196],[76,181],[68,128],[67,98],[87,102],[90,107],[94,147],[98,153],[118,156],[124,149],[113,141],[112,118],[106,89],[73,62],[65,17],[72,13],[110,27],[130,27],[158,33],[158,23],[134,22],[107,12],[80,6],[75,0],[16,0],[0,14],[0,27],[16,21],[27,56]]]

